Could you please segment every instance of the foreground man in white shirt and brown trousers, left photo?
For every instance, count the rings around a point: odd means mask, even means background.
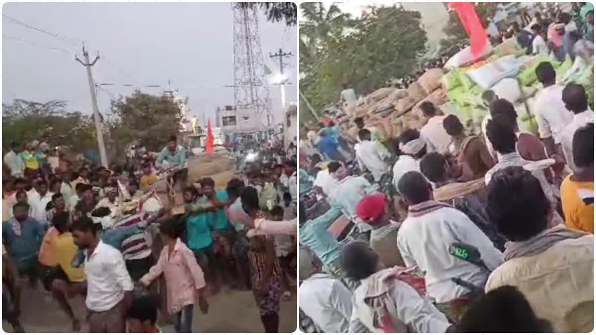
[[[77,220],[72,234],[75,244],[85,249],[89,332],[125,333],[134,284],[122,254],[100,240],[91,218]]]

